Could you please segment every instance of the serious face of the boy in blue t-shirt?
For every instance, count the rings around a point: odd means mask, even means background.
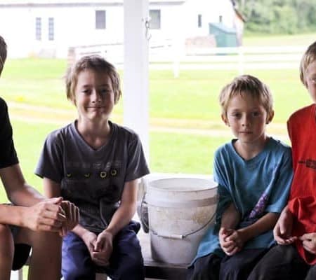
[[[232,97],[228,102],[227,116],[222,116],[239,141],[258,146],[265,142],[267,117],[263,105],[249,94]]]

